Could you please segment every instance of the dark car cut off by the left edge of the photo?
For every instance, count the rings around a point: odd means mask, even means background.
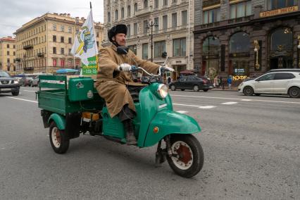
[[[8,75],[3,70],[0,70],[0,93],[10,93],[13,96],[18,96],[20,91],[20,85],[18,80]]]

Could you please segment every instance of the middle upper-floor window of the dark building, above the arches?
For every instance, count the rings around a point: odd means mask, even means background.
[[[230,5],[230,19],[251,15],[251,1]]]

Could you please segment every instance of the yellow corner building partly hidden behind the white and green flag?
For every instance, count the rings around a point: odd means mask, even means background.
[[[58,68],[80,68],[80,58],[70,54],[85,18],[66,13],[46,13],[16,30],[16,68],[19,73],[53,73]],[[103,25],[94,24],[101,45]]]

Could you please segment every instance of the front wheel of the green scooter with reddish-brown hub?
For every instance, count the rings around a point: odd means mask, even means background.
[[[204,152],[193,135],[171,135],[171,157],[167,156],[170,168],[182,177],[193,177],[203,167]]]

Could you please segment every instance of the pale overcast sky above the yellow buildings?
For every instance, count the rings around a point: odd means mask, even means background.
[[[104,0],[0,0],[0,38],[12,36],[23,24],[44,13],[70,13],[71,17],[87,18],[92,2],[95,22],[104,22]]]

